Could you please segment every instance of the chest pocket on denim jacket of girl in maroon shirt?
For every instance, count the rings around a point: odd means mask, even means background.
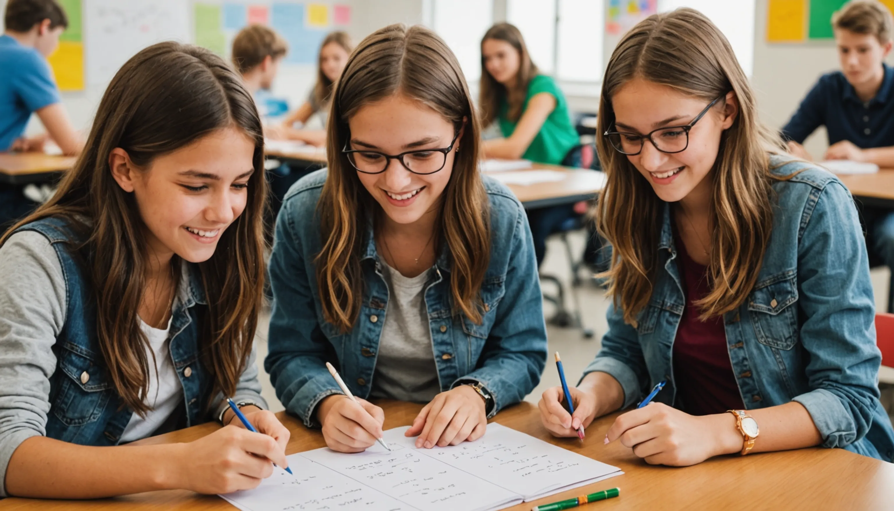
[[[797,343],[797,275],[794,270],[755,285],[748,297],[748,311],[758,342],[780,350]]]

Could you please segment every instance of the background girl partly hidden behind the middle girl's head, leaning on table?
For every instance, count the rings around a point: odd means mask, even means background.
[[[320,53],[316,59],[316,84],[308,94],[308,100],[289,114],[281,126],[272,126],[271,133],[277,139],[308,142],[315,146],[326,143],[326,132],[323,130],[295,129],[295,123],[307,123],[311,115],[316,114],[325,127],[329,118],[329,99],[332,97],[333,84],[342,74],[348,55],[354,49],[347,32],[334,31],[327,35],[320,44]]]

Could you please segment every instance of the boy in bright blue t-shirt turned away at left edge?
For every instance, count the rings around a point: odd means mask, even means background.
[[[55,0],[10,0],[0,36],[0,151],[42,151],[52,139],[64,154],[77,154],[80,135],[72,127],[46,58],[59,46],[68,17]],[[46,133],[23,137],[31,114]],[[0,183],[0,228],[27,215],[37,203],[22,186]]]

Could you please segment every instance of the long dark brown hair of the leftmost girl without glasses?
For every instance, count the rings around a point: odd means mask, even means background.
[[[7,231],[60,217],[88,238],[73,247],[84,261],[97,309],[97,337],[106,370],[124,405],[148,411],[148,339],[137,311],[146,290],[145,225],[131,193],[114,181],[114,148],[145,169],[153,159],[211,132],[235,126],[255,142],[255,173],[246,208],[221,235],[214,255],[198,263],[207,311],[199,309],[198,345],[217,392],[232,395],[257,328],[264,281],[264,136],[240,77],[210,51],[174,42],[147,47],[124,64],[105,90],[84,152],[53,199]],[[172,264],[179,262],[174,258]]]

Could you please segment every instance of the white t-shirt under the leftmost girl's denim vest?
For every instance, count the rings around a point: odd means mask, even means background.
[[[164,330],[148,326],[139,319],[139,328],[149,341],[149,349],[156,355],[156,370],[152,370],[152,353],[146,351],[146,358],[150,362],[149,367],[149,391],[147,401],[149,411],[143,419],[138,413],[134,413],[131,422],[127,423],[121,435],[121,442],[132,442],[145,439],[158,429],[162,423],[177,409],[183,399],[183,386],[177,371],[174,370],[171,361],[171,353],[168,350],[168,333],[171,331],[171,320],[168,319],[167,328]]]

